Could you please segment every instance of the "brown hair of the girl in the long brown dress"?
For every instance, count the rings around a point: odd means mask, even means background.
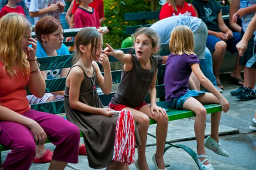
[[[95,29],[95,27],[86,27],[84,29],[81,29],[77,33],[77,37],[75,39],[75,52],[77,53],[74,56],[73,63],[78,62],[78,60],[81,58],[81,51],[80,51],[80,46],[88,46],[91,44],[91,60],[96,59],[96,50],[93,54],[94,48],[96,48],[95,44],[99,43],[102,39],[102,34]]]

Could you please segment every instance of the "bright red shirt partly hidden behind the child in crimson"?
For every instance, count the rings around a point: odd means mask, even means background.
[[[104,5],[103,5],[103,0],[93,0],[93,2],[89,3],[90,7],[93,7],[96,11],[96,14],[99,19],[104,17]],[[74,1],[74,6],[72,9],[72,14],[75,14],[75,11],[79,7],[79,4]]]

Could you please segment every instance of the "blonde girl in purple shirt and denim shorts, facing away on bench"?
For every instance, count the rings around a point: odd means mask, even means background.
[[[191,110],[195,113],[195,138],[197,140],[197,164],[200,169],[213,169],[205,147],[222,156],[229,156],[219,143],[219,120],[221,112],[211,114],[211,135],[207,137],[205,146],[206,109],[202,104],[219,103],[222,110],[229,110],[229,102],[218,92],[209,79],[203,75],[197,55],[194,54],[193,33],[187,26],[177,26],[171,33],[169,48],[171,54],[166,62],[165,96],[171,108]],[[202,91],[189,90],[189,76],[191,72],[200,83],[212,94]]]

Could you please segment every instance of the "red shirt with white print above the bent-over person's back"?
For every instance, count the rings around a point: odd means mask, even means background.
[[[176,8],[178,11],[175,13],[173,6],[171,6],[170,3],[167,2],[165,5],[162,6],[159,14],[159,19],[165,19],[174,15],[186,15],[196,17],[195,11],[189,3],[184,2],[184,7],[176,5]]]

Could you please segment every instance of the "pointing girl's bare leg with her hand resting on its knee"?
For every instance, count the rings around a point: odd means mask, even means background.
[[[144,114],[149,116],[150,119],[153,119],[155,120],[155,122],[157,122],[157,152],[155,153],[155,159],[157,161],[158,168],[165,169],[165,162],[163,161],[163,151],[165,149],[165,141],[168,130],[168,116],[163,116],[162,114],[158,115],[157,113],[155,113],[155,115],[153,116],[151,114],[149,105],[143,106],[139,111],[143,112]]]

